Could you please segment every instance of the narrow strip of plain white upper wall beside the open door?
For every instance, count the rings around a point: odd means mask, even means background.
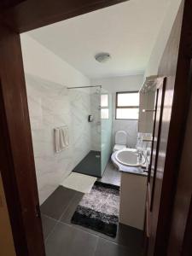
[[[160,32],[155,40],[154,49],[148,60],[148,65],[145,70],[144,77],[157,75],[158,68],[160,67],[160,60],[166,48],[168,38],[170,36],[172,25],[176,19],[177,11],[182,0],[172,0],[170,6],[166,11],[165,19],[160,28]]]

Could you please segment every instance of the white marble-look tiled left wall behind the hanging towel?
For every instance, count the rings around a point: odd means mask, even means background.
[[[32,143],[40,203],[91,149],[90,93],[26,74]],[[69,127],[69,147],[55,153],[54,128]]]

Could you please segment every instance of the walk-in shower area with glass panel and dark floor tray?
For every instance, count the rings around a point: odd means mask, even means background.
[[[112,96],[100,85],[68,89],[73,99],[72,127],[77,131],[73,154],[81,155],[73,172],[102,177],[112,150]]]

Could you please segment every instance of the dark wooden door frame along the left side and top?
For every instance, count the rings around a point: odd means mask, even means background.
[[[9,0],[9,2],[13,1]],[[34,214],[37,214],[36,206],[39,205],[39,202],[20,33],[122,2],[125,0],[18,0],[15,7],[1,11],[0,132],[3,136],[0,137],[0,170],[17,255],[34,256],[35,251],[32,247],[35,244],[38,247],[36,256],[44,256],[44,246],[41,244],[43,240],[38,242],[34,237],[36,231],[41,233],[43,239],[42,228],[38,229],[38,226],[41,226],[41,219],[39,218],[37,227],[30,224],[30,219],[34,218]],[[186,0],[191,8],[189,2],[190,0]],[[186,38],[186,32],[182,37],[183,40]],[[179,55],[179,58],[181,63],[183,55]],[[188,66],[186,67],[188,68]],[[178,94],[178,84],[182,85],[182,77],[183,80],[186,79],[186,72],[180,76],[180,80],[177,79],[176,81]],[[180,94],[182,99],[179,99],[179,102],[185,102],[184,96],[186,93],[182,92]],[[182,141],[183,134],[180,132],[179,119],[183,120],[183,117],[177,116],[177,106],[173,106],[173,108],[172,123],[174,123],[174,127],[171,126],[171,129],[177,129],[178,125],[177,138]],[[189,108],[189,104],[185,102],[182,111],[187,108]],[[175,155],[179,158],[180,154],[177,151]],[[31,183],[33,190],[26,186],[27,183]],[[24,190],[26,190],[25,195],[22,194]],[[169,207],[168,212],[170,213],[171,210]],[[164,227],[162,225],[162,228]],[[160,232],[162,236],[163,230],[161,229]]]

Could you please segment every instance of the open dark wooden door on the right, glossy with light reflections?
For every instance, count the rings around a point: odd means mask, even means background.
[[[151,233],[148,244],[148,255],[150,256],[181,255],[181,250],[177,249],[179,239],[172,240],[173,251],[170,252],[173,253],[168,253],[167,249],[170,240],[177,175],[180,172],[179,164],[182,156],[186,113],[189,110],[191,85],[188,83],[188,80],[190,55],[192,52],[191,10],[192,2],[190,0],[181,3],[158,71],[159,76],[166,77],[166,92],[160,129],[154,201],[152,211],[150,212]],[[189,155],[190,159],[191,154]],[[186,181],[183,183],[183,188],[184,184],[186,184]],[[175,238],[181,235],[177,225],[182,223],[183,212],[181,211],[181,206],[185,203],[186,198],[178,196],[178,199],[181,203],[177,205],[177,217],[179,218],[175,218],[175,224],[172,224],[175,230]]]

